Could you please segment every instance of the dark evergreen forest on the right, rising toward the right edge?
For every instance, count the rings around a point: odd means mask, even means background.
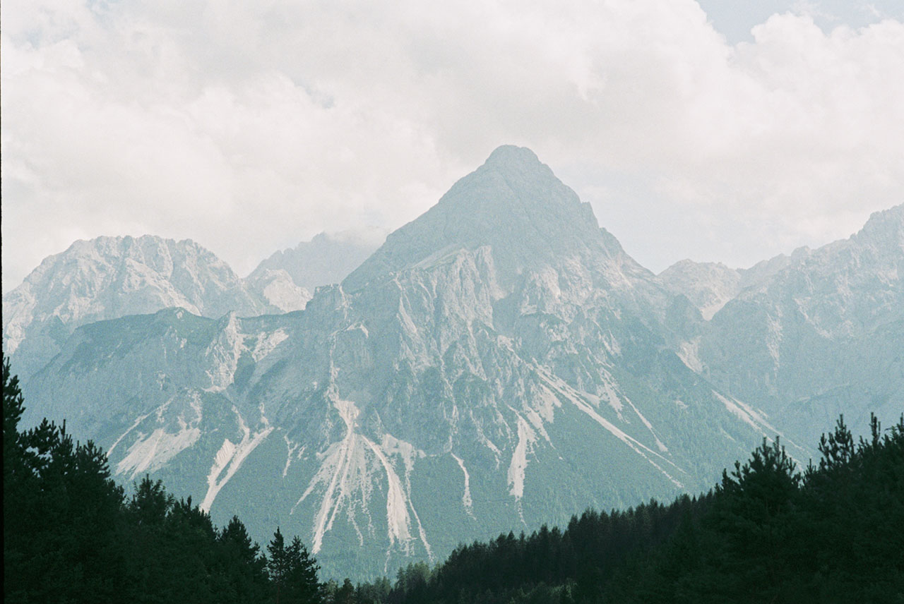
[[[859,441],[842,417],[819,451],[801,473],[764,439],[702,497],[460,545],[358,601],[904,602],[904,415]]]

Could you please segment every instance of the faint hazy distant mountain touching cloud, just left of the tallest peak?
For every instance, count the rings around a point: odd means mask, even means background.
[[[340,283],[381,246],[386,233],[382,228],[321,233],[294,248],[275,252],[249,279],[259,279],[268,270],[283,270],[298,287],[314,292],[320,285]]]

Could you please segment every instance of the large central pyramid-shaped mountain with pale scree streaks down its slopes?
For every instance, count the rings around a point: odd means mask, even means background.
[[[304,311],[199,314],[75,330],[25,381],[26,419],[67,418],[119,479],[165,479],[219,524],[302,535],[327,575],[709,488],[779,433],[682,361],[699,311],[523,148]]]

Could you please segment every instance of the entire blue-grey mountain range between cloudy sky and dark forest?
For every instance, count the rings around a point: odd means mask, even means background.
[[[504,146],[360,265],[372,246],[326,243],[248,279],[149,236],[47,258],[3,298],[24,424],[65,419],[123,484],[163,479],[364,579],[705,491],[764,437],[805,465],[837,414],[904,410],[904,206],[746,270],[656,275]],[[331,255],[342,274],[306,266]]]

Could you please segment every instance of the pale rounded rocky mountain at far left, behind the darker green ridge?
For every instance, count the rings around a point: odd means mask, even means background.
[[[5,293],[3,349],[29,376],[81,325],[174,306],[208,317],[275,310],[189,239],[98,237],[45,258]]]

